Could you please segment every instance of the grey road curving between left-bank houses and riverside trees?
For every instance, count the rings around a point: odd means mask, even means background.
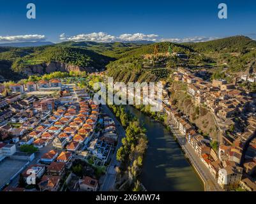
[[[119,134],[116,149],[115,149],[114,153],[112,154],[109,168],[107,168],[107,173],[105,174],[103,184],[100,187],[100,191],[111,191],[112,189],[114,189],[114,184],[116,182],[115,166],[120,165],[119,161],[116,160],[116,152],[119,149],[119,147],[121,147],[121,145],[122,145],[121,140],[125,136],[125,131],[123,129],[123,126],[121,126],[120,122],[116,119],[114,114],[110,111],[109,107],[107,105],[102,105],[102,108],[103,108],[103,111],[105,113],[107,113],[109,115],[109,117],[111,117],[114,120],[114,122],[116,124],[117,132]]]

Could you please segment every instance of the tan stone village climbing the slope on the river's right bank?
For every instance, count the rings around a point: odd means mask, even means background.
[[[245,80],[245,77],[236,78],[232,84],[227,80],[213,80],[211,83],[184,68],[178,68],[170,77],[187,85],[186,94],[191,96],[195,107],[207,108],[213,115],[221,133],[216,141],[218,148],[213,147],[215,141],[212,138],[199,134],[195,124],[176,108],[171,95],[169,99],[165,96],[163,101],[170,126],[186,138],[186,143],[207,166],[220,187],[230,190],[240,186],[246,191],[255,191],[255,93],[245,92],[236,84],[237,80]],[[169,87],[165,89],[167,94]]]

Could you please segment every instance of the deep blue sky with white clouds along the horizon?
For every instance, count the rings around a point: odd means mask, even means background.
[[[28,3],[36,4],[36,19],[26,18]],[[218,18],[219,3],[227,4],[228,19]],[[255,39],[255,25],[255,0],[0,2],[1,43],[29,40],[59,42],[61,34],[62,40],[76,41],[203,41],[237,34]]]

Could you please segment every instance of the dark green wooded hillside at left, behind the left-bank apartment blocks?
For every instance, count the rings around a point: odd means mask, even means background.
[[[17,75],[22,72],[22,68],[43,62],[54,61],[80,67],[104,68],[106,64],[113,60],[114,58],[112,57],[80,47],[50,45],[27,48],[0,48],[0,66],[9,66],[8,68],[17,72]],[[2,74],[4,77],[8,77],[6,73]]]

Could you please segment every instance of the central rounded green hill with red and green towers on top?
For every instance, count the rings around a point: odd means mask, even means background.
[[[157,47],[159,55],[153,55],[155,47]],[[186,57],[165,55],[169,47],[173,53],[183,53]],[[146,55],[152,55],[152,57],[147,59]],[[118,81],[154,82],[167,78],[170,71],[172,71],[171,68],[186,66],[193,69],[211,62],[213,62],[211,59],[202,54],[195,53],[192,48],[177,43],[163,42],[144,45],[140,48],[124,52],[120,59],[107,65],[107,71],[111,77]]]

